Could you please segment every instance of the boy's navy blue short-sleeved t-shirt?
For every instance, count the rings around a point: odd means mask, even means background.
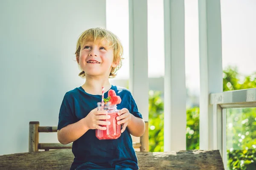
[[[127,108],[131,114],[142,118],[130,91],[113,85],[111,89],[122,99],[122,102],[117,105],[117,109]],[[108,92],[104,94],[104,98],[107,97]],[[88,94],[82,87],[67,92],[61,103],[58,130],[83,119],[97,107],[97,102],[101,102],[101,100],[101,95]],[[73,142],[72,152],[75,158],[70,170],[74,170],[85,162],[113,168],[122,166],[133,170],[138,169],[136,153],[127,128],[118,139],[110,140],[99,140],[96,138],[95,130],[88,130]]]

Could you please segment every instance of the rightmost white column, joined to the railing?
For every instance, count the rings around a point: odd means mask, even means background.
[[[220,0],[198,0],[200,55],[200,149],[217,149],[221,110],[209,94],[223,91]],[[217,129],[218,128],[218,129]]]

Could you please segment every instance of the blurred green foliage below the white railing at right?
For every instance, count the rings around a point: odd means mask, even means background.
[[[230,170],[256,170],[256,108],[227,109]]]

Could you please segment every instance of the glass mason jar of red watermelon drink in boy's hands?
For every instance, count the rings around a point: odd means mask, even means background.
[[[118,110],[116,105],[111,105],[111,102],[107,102],[104,104],[104,108],[102,107],[102,102],[97,103],[98,111],[108,111],[108,115],[110,119],[105,119],[103,121],[110,122],[110,125],[100,125],[102,127],[106,127],[106,130],[96,129],[96,137],[99,140],[104,139],[117,139],[121,136],[121,125],[117,125],[116,117],[118,116]]]

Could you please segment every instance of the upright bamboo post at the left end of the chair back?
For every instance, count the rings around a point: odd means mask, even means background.
[[[38,151],[39,143],[39,122],[29,122],[29,152]]]

